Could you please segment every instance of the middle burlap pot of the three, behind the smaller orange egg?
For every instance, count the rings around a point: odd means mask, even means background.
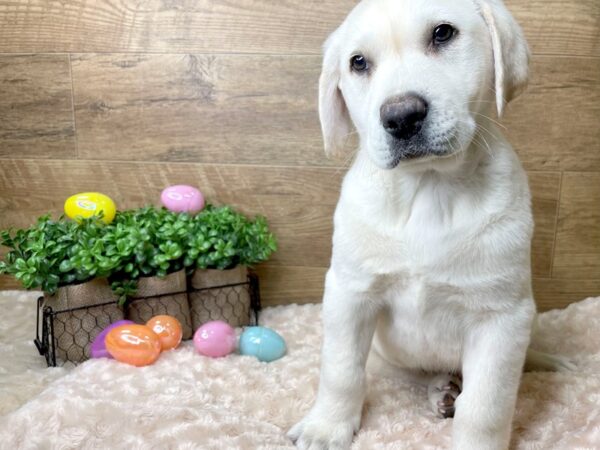
[[[192,338],[185,270],[173,272],[164,278],[145,277],[138,280],[137,293],[127,306],[127,319],[144,324],[159,314],[177,318],[181,322],[183,339]]]

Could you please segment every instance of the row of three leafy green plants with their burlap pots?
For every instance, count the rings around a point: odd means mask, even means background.
[[[123,318],[145,323],[157,314],[175,316],[184,339],[208,320],[248,323],[247,266],[276,249],[264,218],[207,205],[196,216],[149,206],[119,211],[110,224],[101,219],[46,215],[0,234],[9,249],[0,273],[44,292],[44,306],[55,313],[59,359],[87,359],[96,335]],[[194,288],[189,298],[187,275]],[[233,293],[220,289],[232,284]]]

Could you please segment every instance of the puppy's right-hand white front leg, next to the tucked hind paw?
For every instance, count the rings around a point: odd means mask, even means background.
[[[466,335],[452,448],[506,450],[533,312],[496,316]]]

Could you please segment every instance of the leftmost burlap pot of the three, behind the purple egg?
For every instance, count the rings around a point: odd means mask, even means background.
[[[123,319],[106,278],[59,288],[54,295],[44,294],[44,307],[52,307],[56,363],[85,361],[90,345],[108,325]]]

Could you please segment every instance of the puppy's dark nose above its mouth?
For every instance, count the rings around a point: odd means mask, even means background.
[[[427,117],[427,102],[415,94],[389,98],[379,110],[385,131],[396,139],[410,139]]]

